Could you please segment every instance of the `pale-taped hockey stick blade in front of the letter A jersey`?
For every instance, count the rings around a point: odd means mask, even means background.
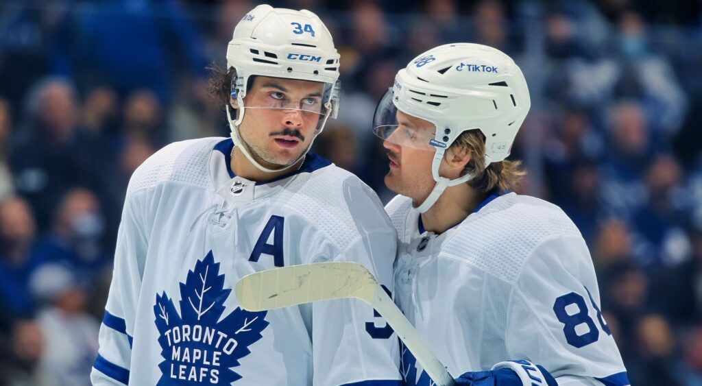
[[[356,262],[317,262],[248,274],[239,279],[234,293],[244,310],[264,311],[340,298],[370,304],[377,285],[368,269]]]

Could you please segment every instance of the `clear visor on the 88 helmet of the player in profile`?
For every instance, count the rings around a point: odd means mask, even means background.
[[[380,99],[373,116],[373,133],[381,140],[412,149],[435,152],[431,145],[436,137],[436,126],[423,119],[405,114],[392,102],[392,88]]]

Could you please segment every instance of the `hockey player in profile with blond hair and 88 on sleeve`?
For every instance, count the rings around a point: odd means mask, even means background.
[[[439,46],[399,71],[374,118],[399,194],[385,208],[396,302],[458,384],[626,385],[580,232],[509,192],[529,106],[519,67],[487,46]],[[407,385],[431,384],[402,359]]]

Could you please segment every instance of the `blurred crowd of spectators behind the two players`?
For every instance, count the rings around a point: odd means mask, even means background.
[[[702,10],[633,0],[280,0],[341,54],[339,119],[315,152],[388,201],[373,111],[439,44],[505,51],[532,109],[520,193],[590,246],[633,385],[702,385]],[[228,135],[205,92],[256,3],[0,4],[0,385],[89,385],[131,173],[168,142]],[[564,256],[563,258],[568,258]]]

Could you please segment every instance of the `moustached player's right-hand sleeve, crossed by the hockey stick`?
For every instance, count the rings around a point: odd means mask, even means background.
[[[334,260],[359,262],[394,288],[395,240],[390,227],[362,234]],[[357,299],[314,302],[312,326],[314,385],[400,385],[397,335],[371,306]]]

